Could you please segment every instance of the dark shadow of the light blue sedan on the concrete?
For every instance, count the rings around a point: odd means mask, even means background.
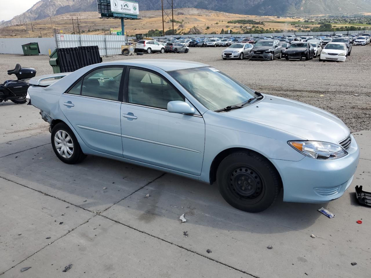
[[[185,213],[186,218],[198,225],[280,233],[308,228],[321,215],[317,209],[326,206],[286,203],[281,191],[266,211],[247,213],[226,203],[216,183],[208,185],[95,156],[68,165],[55,156],[50,144],[1,158],[0,172],[3,178],[89,211],[99,213],[117,203],[112,207],[116,211],[117,207],[125,208],[125,213],[147,223],[158,217],[178,221]],[[128,206],[130,209],[126,209]]]

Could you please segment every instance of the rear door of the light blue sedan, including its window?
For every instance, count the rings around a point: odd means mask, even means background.
[[[124,66],[100,66],[59,99],[67,120],[92,150],[122,157],[121,102]]]

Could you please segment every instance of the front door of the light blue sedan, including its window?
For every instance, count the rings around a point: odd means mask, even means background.
[[[199,176],[205,143],[202,116],[169,113],[168,102],[188,100],[154,71],[128,67],[125,79],[121,106],[124,158]]]

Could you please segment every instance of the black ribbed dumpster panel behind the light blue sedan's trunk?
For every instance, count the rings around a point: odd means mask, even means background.
[[[58,57],[54,58],[53,64],[50,63],[53,72],[56,66],[59,66],[60,72],[73,72],[82,67],[102,62],[98,46],[57,48],[56,53]]]

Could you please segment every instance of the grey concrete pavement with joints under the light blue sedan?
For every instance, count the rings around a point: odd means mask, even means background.
[[[361,159],[344,196],[300,204],[281,193],[249,214],[215,185],[93,156],[64,164],[35,107],[0,109],[1,277],[369,277],[371,208],[354,186],[371,191],[370,131],[354,134]]]

